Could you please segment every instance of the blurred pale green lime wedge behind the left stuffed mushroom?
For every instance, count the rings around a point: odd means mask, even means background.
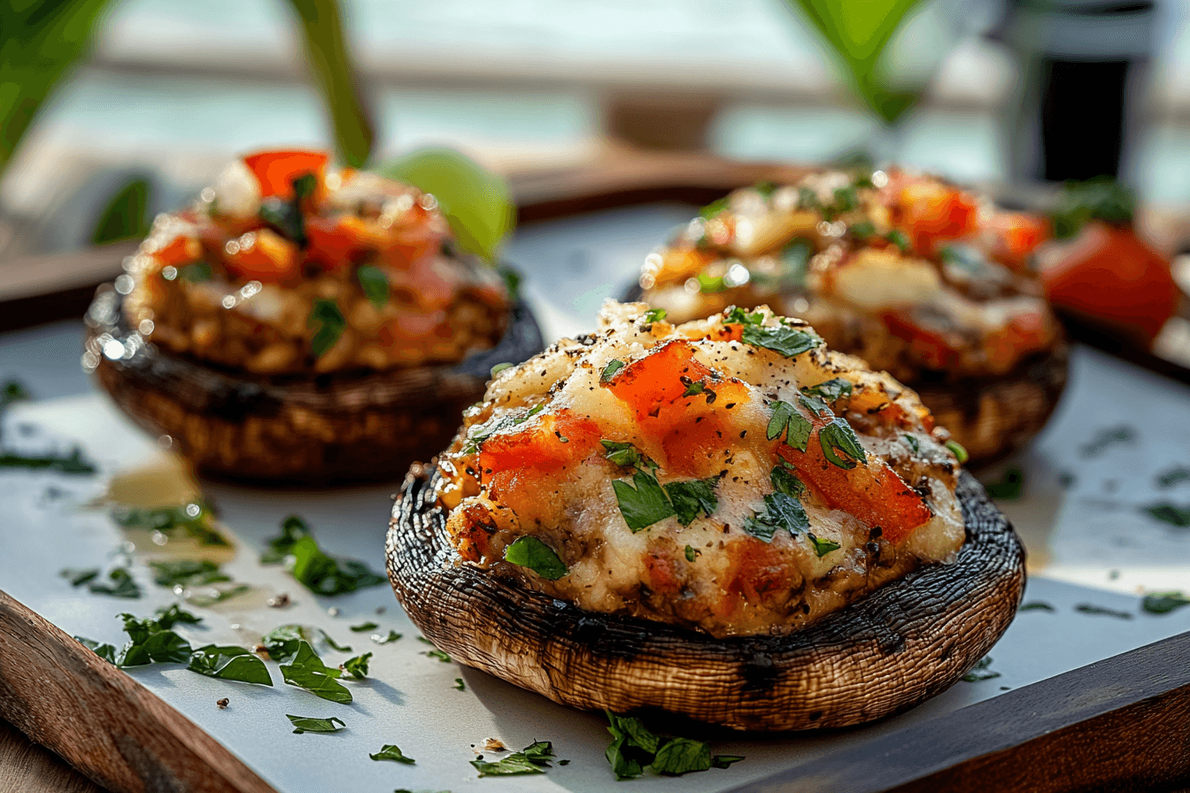
[[[508,183],[451,149],[419,149],[386,163],[381,174],[438,199],[458,244],[489,262],[516,219]]]

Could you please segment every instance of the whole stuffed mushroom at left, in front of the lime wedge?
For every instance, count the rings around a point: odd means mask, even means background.
[[[307,151],[158,216],[87,325],[84,366],[200,468],[311,484],[432,454],[491,365],[543,346],[432,195]]]

